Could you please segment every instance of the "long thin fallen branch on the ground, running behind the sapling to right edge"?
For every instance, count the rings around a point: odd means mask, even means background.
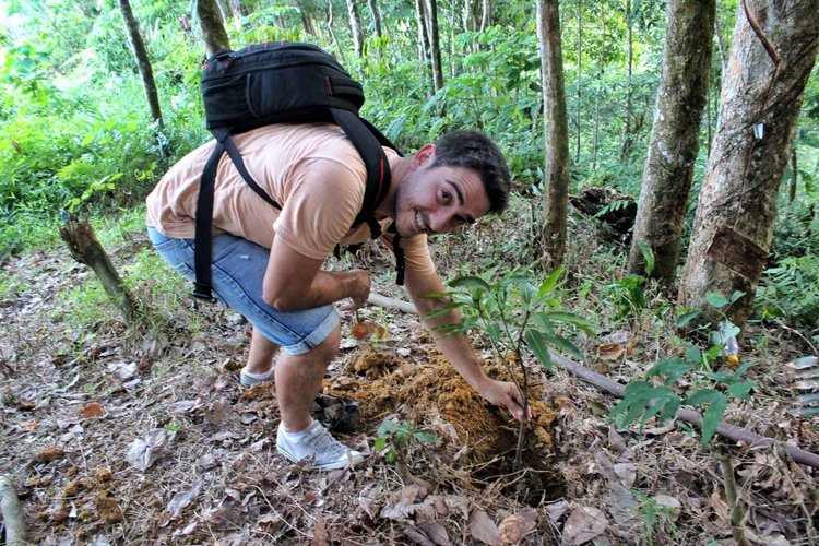
[[[395,299],[393,299],[392,301],[399,301],[401,304],[404,304],[405,306],[411,305],[406,301],[400,301]],[[412,310],[406,310],[404,312],[414,312],[417,314],[417,311],[414,307],[412,308]],[[562,366],[572,376],[582,379],[587,383],[591,383],[592,385],[604,392],[622,397],[622,394],[626,391],[626,385],[622,385],[617,381],[613,381],[612,379],[597,373],[596,371],[592,371],[589,368],[575,363],[574,360],[571,360],[570,358],[557,355],[554,352],[549,353],[551,354],[551,361],[559,366]],[[699,412],[695,412],[693,410],[677,410],[677,418],[688,424],[702,427],[702,415]],[[727,438],[733,442],[745,443],[750,448],[771,449],[776,444],[776,441],[772,438],[759,436],[745,428],[725,423],[724,420],[721,420],[720,425],[717,425],[716,434],[722,436],[723,438]],[[819,468],[819,455],[817,455],[816,453],[799,449],[796,446],[792,446],[790,442],[785,443],[785,450],[795,463],[806,464],[808,466],[812,466],[814,468]]]

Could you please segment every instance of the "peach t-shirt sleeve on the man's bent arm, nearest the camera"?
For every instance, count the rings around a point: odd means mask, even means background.
[[[323,260],[353,225],[364,202],[365,176],[359,165],[306,158],[290,167],[293,177],[273,224],[276,237],[292,249]]]

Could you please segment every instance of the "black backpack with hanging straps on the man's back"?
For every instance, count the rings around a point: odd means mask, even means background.
[[[344,130],[367,167],[364,205],[353,226],[366,222],[372,238],[381,235],[375,211],[390,188],[390,165],[382,145],[397,149],[378,129],[358,116],[364,104],[361,84],[327,51],[311,44],[269,43],[211,57],[202,74],[207,129],[216,146],[202,173],[197,204],[195,289],[200,299],[211,295],[211,225],[216,167],[227,152],[237,170],[264,201],[281,210],[245,168],[232,134],[272,123],[335,123]],[[397,283],[403,284],[404,260],[395,234]]]

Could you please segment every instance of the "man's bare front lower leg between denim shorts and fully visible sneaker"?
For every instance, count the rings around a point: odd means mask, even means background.
[[[312,423],[310,406],[321,389],[327,367],[339,351],[341,327],[314,349],[304,355],[282,352],[276,360],[276,396],[282,425],[287,432],[304,430]]]

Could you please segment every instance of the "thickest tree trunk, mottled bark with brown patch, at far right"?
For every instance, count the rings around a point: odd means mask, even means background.
[[[743,328],[771,249],[776,195],[819,47],[816,0],[740,1],[732,44],[679,300],[719,318],[705,295],[744,292],[725,310]]]

